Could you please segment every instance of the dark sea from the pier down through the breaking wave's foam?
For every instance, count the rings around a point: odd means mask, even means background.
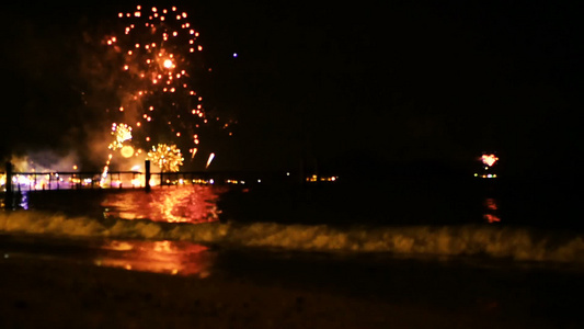
[[[449,200],[455,197],[451,194],[435,197],[422,195],[424,189],[409,189],[385,195],[331,185],[284,194],[278,194],[284,189],[274,192],[261,186],[255,192],[213,185],[159,188],[151,193],[34,192],[27,195],[27,211],[0,213],[0,231],[229,248],[584,263],[584,235],[579,230],[529,226],[520,220],[508,225],[506,222],[514,222],[499,212],[493,194],[461,193],[470,195],[466,202],[476,203],[465,207],[458,205],[459,200]]]

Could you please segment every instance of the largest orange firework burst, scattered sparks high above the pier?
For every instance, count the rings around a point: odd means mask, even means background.
[[[111,52],[107,58],[118,70],[112,73],[118,104],[107,109],[111,122],[117,123],[113,124],[110,150],[131,145],[137,156],[158,145],[172,145],[179,154],[181,148],[188,150],[192,159],[199,144],[197,129],[210,121],[203,98],[191,87],[193,75],[202,67],[198,32],[188,14],[176,7],[138,5],[118,18],[123,31],[103,41]],[[229,123],[224,124],[227,126]],[[104,175],[111,159],[112,154]]]

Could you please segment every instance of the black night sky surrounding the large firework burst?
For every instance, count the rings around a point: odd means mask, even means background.
[[[149,5],[125,4],[2,10],[0,156],[83,140],[79,43]],[[239,122],[208,141],[218,169],[296,169],[301,158],[322,170],[459,168],[495,150],[513,174],[579,170],[576,1],[171,4],[201,31],[207,109]]]

